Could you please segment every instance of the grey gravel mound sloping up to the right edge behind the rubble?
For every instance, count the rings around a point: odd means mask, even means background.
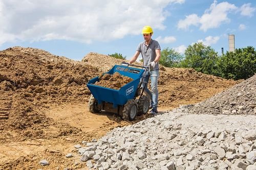
[[[256,115],[256,75],[196,104],[189,111],[204,114]]]

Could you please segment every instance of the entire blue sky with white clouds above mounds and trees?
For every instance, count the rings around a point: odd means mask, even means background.
[[[131,59],[151,26],[161,50],[184,54],[203,42],[221,54],[256,48],[256,1],[210,0],[0,0],[0,50],[33,47],[80,61],[90,52]]]

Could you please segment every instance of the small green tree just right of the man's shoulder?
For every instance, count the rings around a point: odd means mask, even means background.
[[[174,49],[164,48],[161,51],[161,58],[159,63],[165,67],[179,67],[180,61],[183,56],[176,52]]]

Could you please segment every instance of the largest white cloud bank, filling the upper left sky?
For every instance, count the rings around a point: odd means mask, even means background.
[[[0,33],[22,41],[109,41],[140,34],[145,25],[165,29],[163,21],[168,12],[164,8],[170,3],[184,0],[1,0]],[[1,34],[0,45],[6,41]]]

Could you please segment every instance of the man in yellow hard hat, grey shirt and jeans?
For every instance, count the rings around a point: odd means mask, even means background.
[[[135,52],[134,56],[129,61],[129,64],[132,64],[137,60],[140,53],[142,55],[143,59],[143,66],[150,65],[151,70],[146,73],[146,78],[144,81],[148,82],[149,79],[151,79],[151,90],[148,90],[147,87],[145,87],[145,94],[148,96],[148,98],[151,99],[151,106],[152,110],[150,111],[151,114],[158,113],[157,111],[157,105],[158,105],[158,77],[159,77],[159,64],[158,61],[161,57],[161,48],[158,43],[158,41],[153,40],[151,37],[153,35],[153,29],[150,26],[145,26],[142,29],[142,34],[144,37],[144,41],[139,43],[137,47],[137,51]]]

